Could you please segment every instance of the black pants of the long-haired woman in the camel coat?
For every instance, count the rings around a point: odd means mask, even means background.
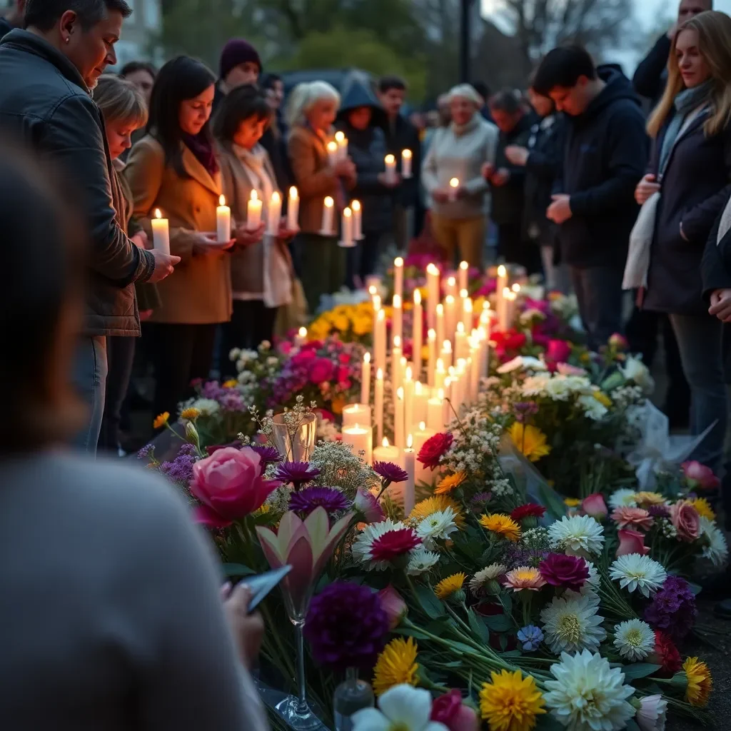
[[[155,363],[154,412],[178,413],[178,404],[192,394],[191,382],[206,379],[211,371],[216,325],[181,325],[155,322],[153,335]]]

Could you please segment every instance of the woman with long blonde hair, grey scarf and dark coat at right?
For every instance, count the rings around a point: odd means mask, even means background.
[[[692,459],[717,471],[726,433],[721,322],[702,299],[700,263],[731,192],[731,18],[703,12],[673,40],[662,99],[648,121],[649,172],[635,197],[655,193],[643,306],[670,315],[691,387],[691,431],[711,428]],[[715,424],[715,426],[714,426]]]

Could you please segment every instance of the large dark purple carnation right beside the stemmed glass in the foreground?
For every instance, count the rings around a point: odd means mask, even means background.
[[[341,672],[370,671],[385,647],[388,616],[368,586],[336,581],[312,599],[305,637],[321,665]]]

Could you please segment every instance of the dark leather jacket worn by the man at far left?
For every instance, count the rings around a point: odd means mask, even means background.
[[[150,279],[155,260],[124,233],[102,113],[72,63],[28,31],[0,41],[0,127],[50,156],[80,192],[91,235],[86,332],[139,335],[132,284]]]

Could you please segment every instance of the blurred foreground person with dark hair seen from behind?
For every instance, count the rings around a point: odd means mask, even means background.
[[[12,343],[0,349],[12,384],[0,420],[0,728],[262,731],[212,546],[181,496],[139,467],[64,451],[88,418],[70,376],[91,247],[69,187],[17,145],[0,149],[13,272],[0,289]],[[262,632],[248,602],[241,588],[226,602],[239,643]]]

